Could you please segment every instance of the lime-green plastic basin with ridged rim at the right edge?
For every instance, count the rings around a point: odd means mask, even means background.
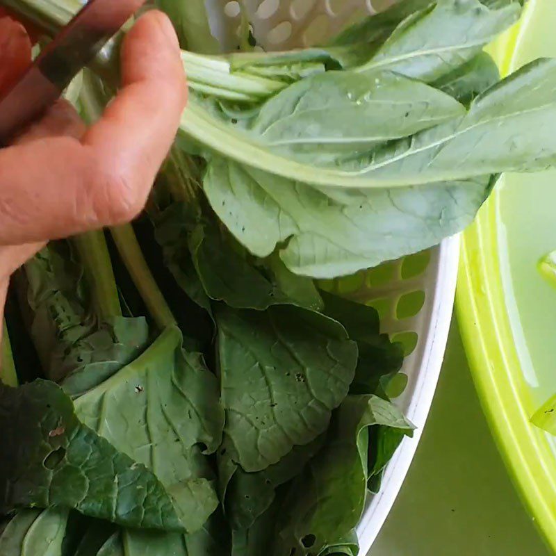
[[[502,74],[556,56],[556,1],[530,0],[491,54]],[[456,309],[493,436],[556,552],[556,439],[531,421],[556,394],[556,291],[538,266],[556,249],[555,208],[555,171],[500,179],[464,234]]]

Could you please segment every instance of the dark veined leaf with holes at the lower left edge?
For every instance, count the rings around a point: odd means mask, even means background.
[[[0,386],[0,427],[0,512],[56,506],[120,525],[183,529],[154,474],[80,423],[56,384]]]

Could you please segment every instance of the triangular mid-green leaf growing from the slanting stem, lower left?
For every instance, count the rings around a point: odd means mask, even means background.
[[[188,532],[218,505],[201,446],[218,448],[223,414],[215,377],[200,354],[165,330],[138,359],[76,400],[83,423],[151,469],[174,500]],[[117,423],[114,425],[113,423]]]

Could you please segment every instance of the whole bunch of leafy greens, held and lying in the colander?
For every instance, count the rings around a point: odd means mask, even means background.
[[[79,8],[1,3],[46,33]],[[51,243],[16,280],[40,369],[14,350],[38,377],[14,388],[4,343],[0,553],[357,555],[412,431],[386,395],[402,349],[316,279],[436,245],[500,172],[555,163],[556,62],[500,81],[483,47],[514,0],[404,0],[278,53],[245,20],[230,55],[204,2],[155,3],[190,103],[142,217]],[[85,119],[114,54],[74,83]]]

